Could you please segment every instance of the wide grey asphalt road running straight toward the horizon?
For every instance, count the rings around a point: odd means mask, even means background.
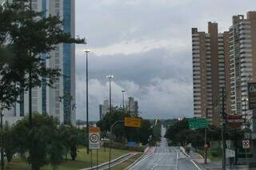
[[[162,136],[164,136],[166,128],[162,128]],[[135,164],[132,170],[199,170],[191,159],[185,156],[176,147],[168,147],[166,138],[162,137],[159,147],[156,148],[154,154],[143,157],[142,160]]]

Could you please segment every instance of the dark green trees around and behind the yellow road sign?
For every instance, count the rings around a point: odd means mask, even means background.
[[[128,110],[123,112],[122,107],[115,107],[112,109],[111,113],[106,113],[101,121],[98,121],[97,126],[101,128],[101,137],[104,139],[110,139],[110,126],[114,124],[115,121],[123,121],[125,117],[131,117]],[[161,125],[151,124],[150,121],[139,117],[142,120],[142,125],[140,128],[130,128],[125,127],[123,123],[115,125],[113,128],[112,140],[114,140],[113,147],[123,148],[127,142],[133,141],[138,145],[152,144],[154,145],[156,141],[159,140],[161,136]],[[106,142],[106,147],[108,147],[108,142]]]

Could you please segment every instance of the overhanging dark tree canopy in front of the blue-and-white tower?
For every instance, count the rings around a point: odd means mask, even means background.
[[[0,103],[4,109],[10,109],[24,90],[42,82],[53,87],[58,81],[60,70],[45,64],[58,44],[84,43],[62,30],[58,16],[44,18],[44,12],[30,10],[29,2],[16,0],[0,6]]]

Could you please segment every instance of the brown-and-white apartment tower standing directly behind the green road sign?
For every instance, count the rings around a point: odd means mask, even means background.
[[[219,123],[222,88],[227,90],[228,33],[218,33],[218,24],[208,22],[208,33],[192,28],[194,117]]]

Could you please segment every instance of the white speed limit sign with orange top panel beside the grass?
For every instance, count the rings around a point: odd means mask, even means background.
[[[89,148],[96,149],[100,148],[100,136],[99,136],[100,129],[96,127],[89,128]]]

